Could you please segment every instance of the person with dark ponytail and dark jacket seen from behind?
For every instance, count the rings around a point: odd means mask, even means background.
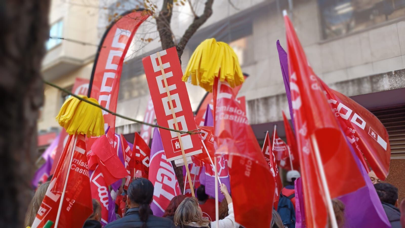
[[[128,186],[127,207],[124,217],[104,226],[105,228],[175,228],[170,219],[152,214],[153,185],[145,178],[136,178]]]

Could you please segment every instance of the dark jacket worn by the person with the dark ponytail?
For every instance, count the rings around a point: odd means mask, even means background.
[[[121,219],[115,220],[104,226],[104,228],[137,228],[141,227],[143,222],[139,217],[139,208],[130,208]],[[149,215],[146,222],[148,228],[175,228],[175,224],[170,219]]]

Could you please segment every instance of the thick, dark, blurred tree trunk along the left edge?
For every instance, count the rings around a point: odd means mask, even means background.
[[[32,198],[40,69],[49,37],[49,0],[0,2],[0,208],[2,227],[23,227]]]

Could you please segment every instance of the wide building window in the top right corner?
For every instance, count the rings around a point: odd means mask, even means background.
[[[404,17],[405,0],[318,0],[324,39]]]

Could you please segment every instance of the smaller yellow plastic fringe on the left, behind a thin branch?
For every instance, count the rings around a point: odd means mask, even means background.
[[[83,95],[79,97],[98,104],[94,98]],[[104,118],[101,109],[76,97],[70,97],[63,103],[56,121],[66,129],[69,135],[79,133],[90,137],[104,134]]]

